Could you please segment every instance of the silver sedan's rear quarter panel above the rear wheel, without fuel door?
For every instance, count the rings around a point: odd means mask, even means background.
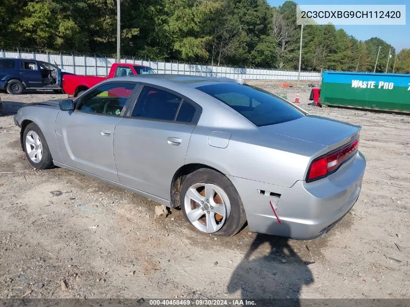
[[[208,138],[215,129],[197,126],[185,163],[202,163],[225,175],[291,187],[304,180],[312,155],[325,146],[295,140],[259,129],[223,129],[231,138],[226,148],[213,147]]]

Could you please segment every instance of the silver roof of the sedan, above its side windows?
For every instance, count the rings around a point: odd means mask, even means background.
[[[131,78],[138,82],[147,83],[174,83],[181,86],[187,86],[191,88],[197,88],[199,86],[213,84],[213,83],[235,83],[236,81],[226,77],[206,77],[206,76],[190,76],[190,75],[171,75],[171,74],[146,74],[146,75],[136,75],[128,76],[124,78]],[[130,80],[130,79],[126,79]],[[158,84],[160,85],[160,84]]]

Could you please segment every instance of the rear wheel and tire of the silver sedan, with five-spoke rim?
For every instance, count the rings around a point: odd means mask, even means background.
[[[188,222],[202,232],[229,237],[246,221],[235,187],[212,169],[202,168],[186,176],[180,188],[180,204]]]

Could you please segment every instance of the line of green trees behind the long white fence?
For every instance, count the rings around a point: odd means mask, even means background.
[[[296,3],[121,0],[121,54],[152,60],[297,69]],[[115,54],[116,0],[1,0],[0,48]],[[360,41],[333,25],[303,29],[302,70],[410,73],[410,49]]]

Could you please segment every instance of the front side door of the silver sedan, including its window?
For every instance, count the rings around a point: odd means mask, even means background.
[[[63,163],[118,182],[113,136],[136,82],[104,83],[79,97],[74,111],[60,111],[56,139]]]

